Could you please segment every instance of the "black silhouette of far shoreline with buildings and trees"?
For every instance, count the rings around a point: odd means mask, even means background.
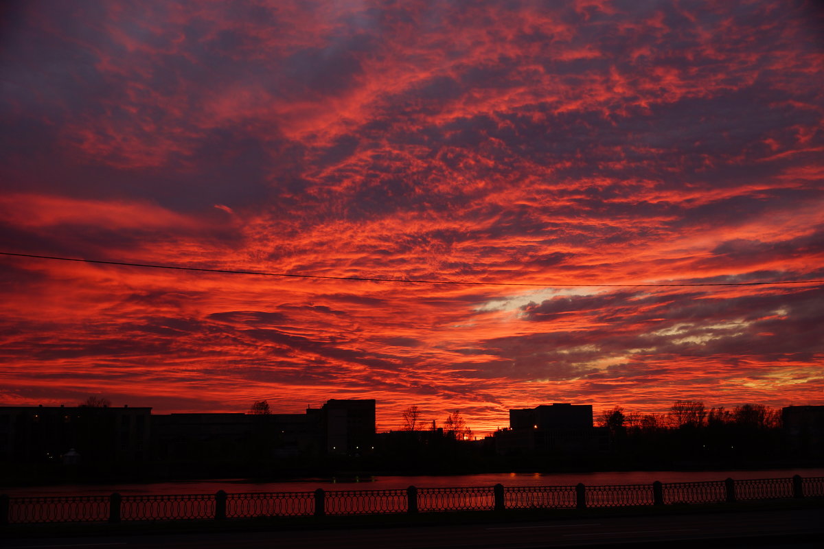
[[[167,414],[147,407],[0,407],[0,482],[163,482],[246,478],[814,468],[824,463],[824,406],[705,410],[677,401],[667,415],[620,407],[541,405],[510,411],[482,440],[454,412],[447,429],[405,416],[375,432],[374,400],[330,400],[306,414]],[[410,412],[411,413],[411,412]],[[426,428],[421,429],[424,425]]]

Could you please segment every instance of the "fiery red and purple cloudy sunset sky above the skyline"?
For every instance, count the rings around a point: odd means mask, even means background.
[[[819,2],[4,2],[0,404],[824,404]]]

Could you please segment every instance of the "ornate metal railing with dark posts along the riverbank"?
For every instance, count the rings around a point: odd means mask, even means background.
[[[475,486],[195,495],[0,495],[0,524],[244,519],[325,514],[586,509],[824,497],[824,477],[611,486]]]

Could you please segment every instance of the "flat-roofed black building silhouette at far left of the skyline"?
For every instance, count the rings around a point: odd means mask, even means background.
[[[149,458],[152,408],[0,407],[0,461],[82,465]]]

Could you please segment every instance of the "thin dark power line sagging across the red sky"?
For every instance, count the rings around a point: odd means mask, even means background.
[[[101,259],[59,258],[50,255],[13,254],[0,252],[0,255],[10,255],[18,258],[51,259],[54,261],[74,261],[78,263],[99,263],[101,265],[116,265],[119,267],[139,267],[152,269],[171,269],[175,271],[219,272],[222,274],[258,275],[261,277],[291,277],[291,278],[321,278],[325,280],[351,280],[367,282],[400,282],[408,284],[452,284],[463,286],[564,286],[583,288],[658,288],[673,286],[771,286],[774,284],[822,284],[824,280],[794,280],[794,281],[767,281],[767,282],[678,282],[669,284],[567,284],[546,283],[533,284],[529,282],[480,282],[480,281],[453,281],[453,280],[423,280],[410,278],[382,278],[382,277],[332,277],[328,275],[292,274],[288,272],[264,271],[236,271],[232,269],[209,269],[200,267],[178,267],[176,265],[154,265],[152,263],[125,263],[122,261],[103,261]]]

